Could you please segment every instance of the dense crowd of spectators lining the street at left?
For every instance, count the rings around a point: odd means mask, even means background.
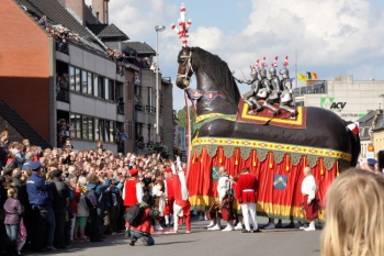
[[[9,255],[102,242],[105,235],[125,232],[122,191],[129,170],[138,170],[144,191],[149,191],[155,178],[163,177],[171,164],[160,154],[115,155],[105,151],[102,142],[78,152],[70,143],[41,149],[27,140],[8,138],[7,131],[0,133],[0,246]],[[92,222],[92,209],[84,200],[84,191],[90,189],[100,196],[99,222]],[[10,199],[19,207],[7,208]],[[19,218],[9,223],[4,220],[10,214]]]

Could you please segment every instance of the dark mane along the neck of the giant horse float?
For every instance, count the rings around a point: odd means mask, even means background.
[[[225,93],[234,108],[237,109],[240,92],[228,64],[217,55],[211,54],[200,47],[190,47],[190,51],[192,52],[192,66],[203,69],[215,86]]]

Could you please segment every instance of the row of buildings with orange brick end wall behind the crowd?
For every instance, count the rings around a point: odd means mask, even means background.
[[[154,122],[137,119],[135,92],[154,88],[155,75],[109,24],[109,0],[4,0],[0,15],[0,129],[12,126],[42,147],[70,137],[80,151],[97,141],[115,153],[137,149],[138,133]],[[156,52],[147,46],[149,65]],[[160,74],[160,81],[161,98],[171,99],[170,80]],[[170,103],[160,113],[162,131],[171,112]]]

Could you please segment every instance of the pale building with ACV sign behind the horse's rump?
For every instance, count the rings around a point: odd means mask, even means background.
[[[294,93],[297,105],[327,109],[346,121],[358,123],[360,159],[369,157],[370,147],[374,148],[374,155],[383,149],[383,124],[379,122],[376,127],[374,124],[376,113],[380,120],[383,115],[380,109],[384,107],[384,81],[353,80],[351,75],[345,75],[334,80],[308,80],[305,87],[295,88]]]

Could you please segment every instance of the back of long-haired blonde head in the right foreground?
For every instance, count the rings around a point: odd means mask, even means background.
[[[384,255],[384,178],[352,168],[329,187],[323,256]]]

